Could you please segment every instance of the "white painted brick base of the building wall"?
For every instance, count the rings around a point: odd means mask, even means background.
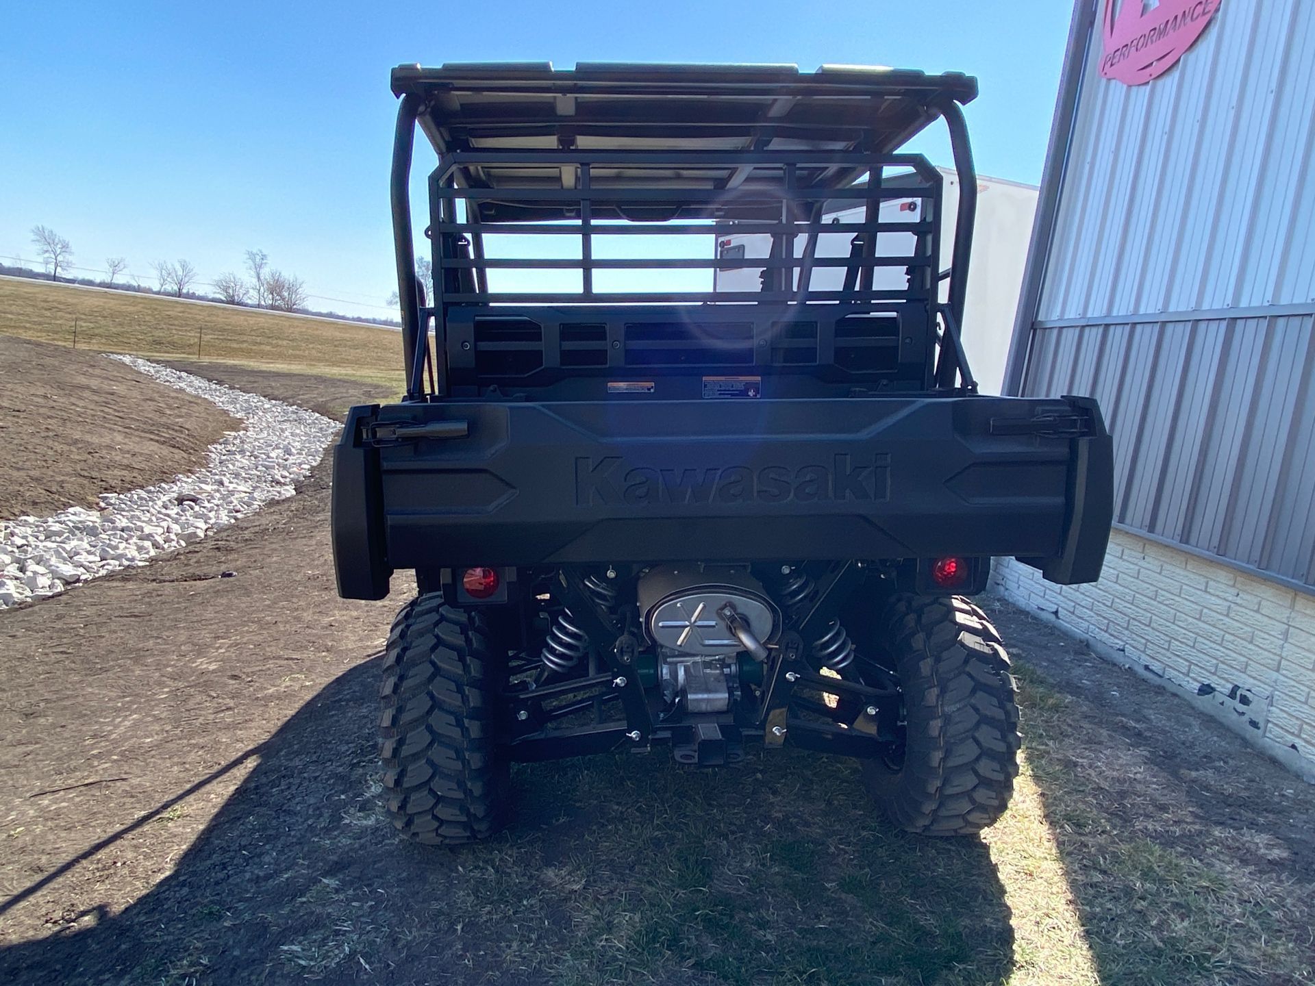
[[[1013,559],[992,584],[1315,782],[1315,597],[1126,531],[1094,585],[1051,585]]]

